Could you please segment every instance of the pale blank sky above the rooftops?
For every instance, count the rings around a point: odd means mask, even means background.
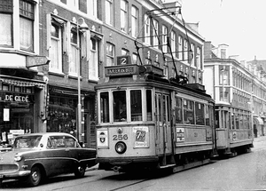
[[[173,0],[165,0],[173,1]],[[266,0],[179,0],[185,22],[206,41],[229,45],[240,60],[266,60]]]

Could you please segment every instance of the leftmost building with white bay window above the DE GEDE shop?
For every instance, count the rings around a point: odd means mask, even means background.
[[[39,57],[39,2],[0,4],[0,142],[8,143],[13,134],[43,131],[47,81],[35,66],[47,59]]]

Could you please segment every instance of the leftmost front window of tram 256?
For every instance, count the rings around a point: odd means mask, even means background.
[[[100,93],[100,115],[101,123],[109,123],[109,96],[108,92]]]

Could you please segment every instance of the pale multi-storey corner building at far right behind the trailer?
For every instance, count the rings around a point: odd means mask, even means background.
[[[210,42],[204,45],[204,85],[207,93],[215,99],[216,105],[231,108],[229,118],[236,123],[228,123],[226,128],[245,128],[245,117],[252,112],[254,136],[265,133],[265,83],[264,70],[236,56],[228,56],[229,46],[215,47]]]

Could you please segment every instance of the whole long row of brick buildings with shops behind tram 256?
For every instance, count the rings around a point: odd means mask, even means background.
[[[203,84],[204,39],[196,25],[184,23],[176,2],[0,3],[6,26],[0,30],[0,131],[6,138],[11,130],[64,131],[96,147],[94,86],[105,67],[124,64],[124,56],[126,64],[152,64],[166,78]]]

